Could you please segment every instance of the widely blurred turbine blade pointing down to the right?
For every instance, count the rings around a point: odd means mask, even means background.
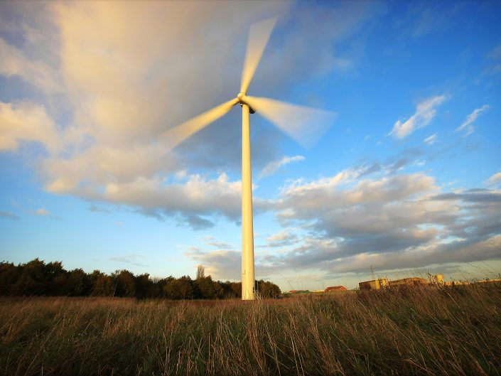
[[[246,96],[244,101],[306,149],[311,149],[338,117],[335,112],[269,98]]]

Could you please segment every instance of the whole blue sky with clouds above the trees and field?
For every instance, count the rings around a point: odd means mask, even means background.
[[[501,6],[483,2],[0,4],[0,259],[240,273],[239,89],[338,114],[303,149],[254,114],[257,278],[282,289],[501,271]],[[311,124],[313,127],[315,124]]]

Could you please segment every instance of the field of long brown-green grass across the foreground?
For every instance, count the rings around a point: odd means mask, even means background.
[[[500,375],[501,284],[274,301],[0,299],[2,375]]]

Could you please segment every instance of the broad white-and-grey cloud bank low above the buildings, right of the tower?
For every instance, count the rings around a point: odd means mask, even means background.
[[[267,264],[339,273],[370,264],[391,270],[500,257],[487,246],[501,240],[500,191],[442,193],[423,173],[349,184],[332,180],[296,182],[283,190],[279,220],[315,236],[298,239],[286,252],[266,254]]]

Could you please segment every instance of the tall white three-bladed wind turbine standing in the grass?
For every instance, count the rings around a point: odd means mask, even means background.
[[[308,148],[330,127],[335,112],[298,106],[247,95],[252,76],[269,41],[276,18],[254,23],[249,32],[240,92],[237,97],[214,107],[161,134],[169,149],[215,122],[239,103],[242,107],[242,300],[254,300],[254,230],[252,223],[252,178],[249,114],[258,112],[299,144]]]

